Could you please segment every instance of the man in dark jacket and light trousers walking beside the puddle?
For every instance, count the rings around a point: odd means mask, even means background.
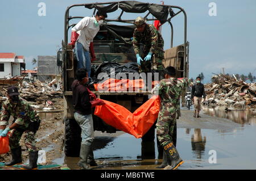
[[[203,83],[201,83],[201,77],[197,77],[196,83],[192,86],[192,91],[191,91],[191,97],[195,107],[194,117],[201,117],[199,116],[199,112],[201,110],[202,96],[205,101],[206,95],[204,91],[204,85]]]

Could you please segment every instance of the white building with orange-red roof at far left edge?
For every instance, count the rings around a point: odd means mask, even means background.
[[[24,56],[16,56],[15,53],[0,53],[0,78],[19,77],[24,65]]]

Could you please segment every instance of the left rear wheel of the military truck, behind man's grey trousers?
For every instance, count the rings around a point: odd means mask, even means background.
[[[79,157],[81,128],[75,119],[65,120],[64,146],[64,153],[67,157]]]

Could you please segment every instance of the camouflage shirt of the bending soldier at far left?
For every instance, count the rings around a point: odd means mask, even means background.
[[[14,117],[16,124],[24,127],[28,127],[31,122],[39,119],[38,113],[26,100],[22,98],[19,98],[19,100],[19,103],[15,106],[10,103],[9,99],[3,103],[0,125],[8,125],[10,116]]]

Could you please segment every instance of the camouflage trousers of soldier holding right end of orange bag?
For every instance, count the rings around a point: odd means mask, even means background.
[[[160,145],[166,145],[168,142],[175,142],[173,140],[176,128],[176,108],[161,106],[159,111],[158,121],[156,123],[156,135]]]

